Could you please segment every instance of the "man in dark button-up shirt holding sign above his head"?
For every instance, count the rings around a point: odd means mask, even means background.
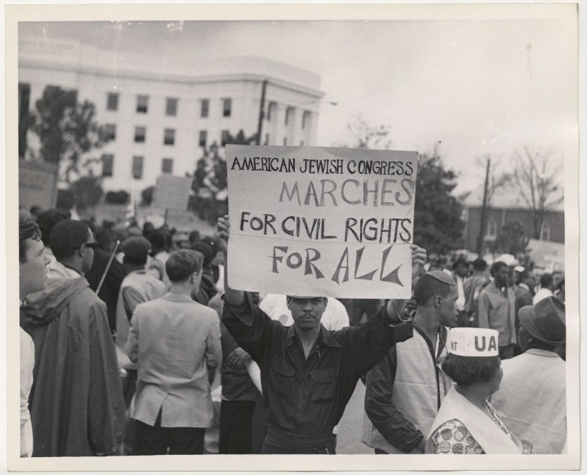
[[[412,322],[401,319],[405,300],[389,300],[360,327],[327,331],[320,324],[327,298],[288,295],[294,324],[284,327],[252,304],[244,291],[229,287],[229,229],[229,217],[219,218],[218,239],[227,265],[222,322],[261,368],[270,424],[262,453],[334,454],[332,429],[356,382],[393,345],[412,337]],[[426,252],[414,245],[411,249],[415,278]]]

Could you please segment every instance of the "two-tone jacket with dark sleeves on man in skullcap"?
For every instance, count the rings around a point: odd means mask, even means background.
[[[446,329],[440,327],[438,348],[434,349],[434,343],[414,322],[414,337],[392,347],[369,371],[363,418],[365,445],[387,454],[422,453],[417,447],[452,385],[439,367],[447,354],[446,335]]]

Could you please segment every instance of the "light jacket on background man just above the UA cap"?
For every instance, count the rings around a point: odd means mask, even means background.
[[[490,282],[479,295],[478,315],[479,328],[490,328],[499,331],[498,345],[505,347],[517,342],[515,310],[516,293],[507,289],[506,295]]]

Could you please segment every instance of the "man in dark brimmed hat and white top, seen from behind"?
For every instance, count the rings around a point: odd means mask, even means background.
[[[522,307],[519,318],[523,354],[503,362],[492,404],[532,444],[532,454],[561,454],[567,438],[566,368],[555,351],[566,341],[565,305],[547,297]]]

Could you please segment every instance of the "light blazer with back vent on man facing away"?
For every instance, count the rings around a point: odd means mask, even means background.
[[[138,366],[135,419],[162,427],[210,427],[208,368],[222,362],[220,321],[213,309],[169,292],[133,313],[128,358]]]

